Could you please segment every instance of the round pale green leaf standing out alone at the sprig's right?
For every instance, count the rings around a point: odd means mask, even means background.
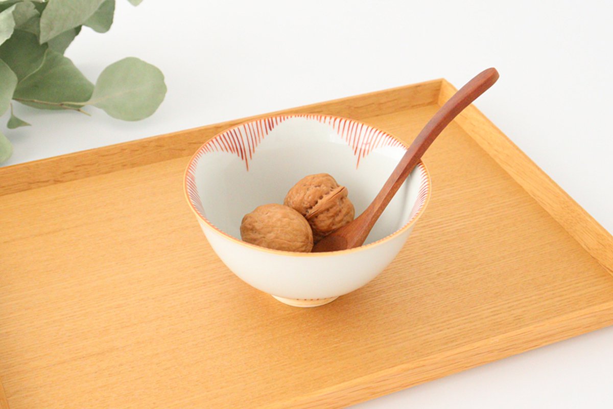
[[[165,95],[164,74],[141,59],[128,57],[102,71],[88,104],[113,118],[138,121],[152,115]]]

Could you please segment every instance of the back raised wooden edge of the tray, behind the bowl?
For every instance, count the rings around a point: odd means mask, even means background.
[[[275,113],[226,121],[172,134],[118,143],[107,147],[71,153],[0,167],[0,195],[69,182],[120,169],[130,169],[168,159],[191,156],[206,140],[231,126],[267,115],[281,113],[326,113],[359,120],[372,112],[390,113],[435,104],[441,80],[305,105]]]

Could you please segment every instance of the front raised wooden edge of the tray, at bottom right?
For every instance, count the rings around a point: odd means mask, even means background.
[[[613,324],[613,302],[584,308],[503,335],[443,351],[411,364],[400,364],[365,377],[314,391],[295,399],[269,405],[267,409],[344,408],[392,392],[417,386],[505,357],[535,350]],[[533,332],[538,337],[533,337]],[[546,331],[544,333],[544,331]],[[528,346],[526,348],[526,346]],[[484,352],[485,350],[485,352]],[[439,364],[441,359],[451,364]],[[470,365],[464,362],[472,362]],[[339,403],[343,401],[343,403]]]

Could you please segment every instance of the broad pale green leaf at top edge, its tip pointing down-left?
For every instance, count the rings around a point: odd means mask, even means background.
[[[104,0],[49,0],[40,15],[40,44],[83,25]]]

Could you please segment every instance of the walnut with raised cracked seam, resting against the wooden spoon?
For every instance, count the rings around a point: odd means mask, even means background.
[[[313,242],[353,220],[355,209],[347,188],[339,186],[329,174],[308,175],[294,185],[284,204],[305,216],[313,229]]]

